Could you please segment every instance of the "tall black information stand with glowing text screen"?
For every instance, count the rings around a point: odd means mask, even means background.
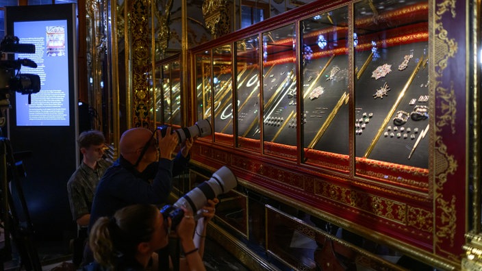
[[[61,240],[76,231],[66,191],[79,166],[75,3],[5,7],[5,33],[35,46],[8,51],[26,64],[22,75],[40,77],[38,92],[11,90],[8,137],[14,153],[31,153],[23,159],[24,193],[36,240]]]

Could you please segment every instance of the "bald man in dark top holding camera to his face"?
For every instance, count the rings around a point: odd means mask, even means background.
[[[94,194],[89,229],[97,218],[113,216],[136,203],[163,205],[173,187],[173,176],[186,168],[194,140],[189,138],[175,159],[171,154],[178,144],[176,133],[162,137],[145,128],[125,131],[119,142],[121,156],[107,168]]]

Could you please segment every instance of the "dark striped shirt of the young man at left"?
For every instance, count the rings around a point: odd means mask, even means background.
[[[110,165],[109,162],[101,159],[97,162],[97,167],[92,169],[82,162],[71,176],[71,179],[68,179],[68,202],[71,205],[74,221],[85,214],[90,214],[95,188]]]

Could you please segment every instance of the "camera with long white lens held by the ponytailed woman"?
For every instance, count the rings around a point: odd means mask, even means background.
[[[227,166],[223,166],[213,173],[211,179],[196,186],[188,194],[179,198],[176,203],[162,207],[161,214],[166,223],[168,218],[172,220],[171,229],[174,230],[184,216],[181,207],[192,211],[196,219],[200,218],[201,214],[198,214],[199,216],[196,216],[196,214],[199,209],[206,205],[208,199],[216,198],[219,194],[225,194],[235,188],[236,185],[238,185],[236,176]]]

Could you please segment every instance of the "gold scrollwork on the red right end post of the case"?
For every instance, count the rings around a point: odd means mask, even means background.
[[[454,155],[448,153],[448,148],[444,142],[444,138],[440,135],[444,127],[449,127],[452,134],[455,134],[455,117],[457,113],[457,97],[453,88],[450,90],[441,86],[444,70],[448,66],[451,58],[455,57],[458,51],[458,43],[454,38],[450,38],[448,31],[443,25],[443,16],[453,18],[457,16],[455,5],[457,1],[447,0],[435,3],[434,12],[434,86],[437,103],[440,102],[440,114],[435,119],[435,168],[434,168],[434,206],[437,229],[434,235],[434,244],[441,247],[443,243],[453,246],[455,242],[455,233],[457,229],[457,212],[455,206],[457,196],[452,195],[445,198],[443,194],[444,185],[448,180],[448,175],[455,174],[458,164]],[[460,2],[459,2],[460,3]],[[451,81],[453,84],[453,81]]]

